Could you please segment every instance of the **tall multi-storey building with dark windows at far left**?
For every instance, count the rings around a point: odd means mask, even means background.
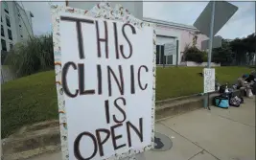
[[[1,50],[10,51],[12,46],[33,35],[31,11],[24,10],[15,1],[1,1]]]

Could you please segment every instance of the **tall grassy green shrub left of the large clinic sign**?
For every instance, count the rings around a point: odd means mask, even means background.
[[[52,34],[34,36],[26,42],[15,44],[5,63],[11,66],[17,77],[54,69]]]

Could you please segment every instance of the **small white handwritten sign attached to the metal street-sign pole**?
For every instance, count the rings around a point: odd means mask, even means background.
[[[215,91],[215,69],[204,68],[203,69],[203,92],[214,92]]]

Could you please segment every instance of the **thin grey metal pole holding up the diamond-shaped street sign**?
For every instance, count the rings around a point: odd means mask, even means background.
[[[207,68],[211,68],[211,61],[212,61],[212,48],[213,48],[213,36],[214,36],[214,34],[213,34],[214,14],[215,14],[215,1],[212,1],[212,17],[211,17],[211,25],[210,25],[209,52],[208,52]],[[208,99],[209,99],[209,94],[205,93],[203,106],[204,106],[204,108],[208,108],[210,110]]]

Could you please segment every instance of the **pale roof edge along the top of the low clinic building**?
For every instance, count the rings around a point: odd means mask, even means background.
[[[179,28],[179,29],[189,29],[189,30],[198,31],[198,29],[194,26],[175,23],[175,22],[169,22],[169,21],[165,21],[165,20],[153,19],[153,18],[149,18],[149,17],[143,17],[143,21],[156,23],[158,25],[171,26],[171,27],[175,27],[175,28]]]

